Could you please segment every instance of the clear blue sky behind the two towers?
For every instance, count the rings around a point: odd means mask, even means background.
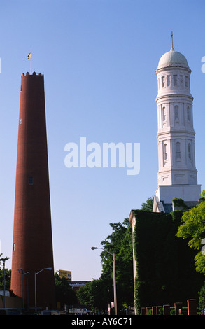
[[[174,48],[192,69],[198,183],[204,189],[204,1],[1,0],[0,240],[13,240],[20,78],[45,78],[55,271],[73,280],[101,274],[100,246],[109,223],[122,222],[157,188],[157,78],[160,57]],[[66,143],[141,144],[141,169],[66,168]],[[40,228],[39,228],[40,229]]]

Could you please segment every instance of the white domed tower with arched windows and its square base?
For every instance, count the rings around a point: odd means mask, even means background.
[[[174,197],[197,202],[201,186],[195,167],[195,131],[190,94],[191,70],[185,57],[171,50],[157,70],[157,141],[159,171],[153,211],[171,211]]]

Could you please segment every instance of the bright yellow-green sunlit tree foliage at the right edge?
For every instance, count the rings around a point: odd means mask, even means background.
[[[202,197],[204,196],[204,191]],[[202,254],[202,239],[205,237],[205,201],[197,207],[183,213],[181,225],[176,234],[177,237],[188,239],[190,248],[199,250],[195,256],[195,269],[205,274],[205,255]]]

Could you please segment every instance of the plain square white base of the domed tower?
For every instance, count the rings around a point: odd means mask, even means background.
[[[184,200],[195,207],[201,194],[201,185],[160,185],[154,197],[153,211],[169,213],[173,210],[174,197]]]

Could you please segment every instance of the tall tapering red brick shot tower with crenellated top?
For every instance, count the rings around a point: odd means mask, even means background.
[[[21,77],[10,284],[26,308],[35,306],[35,273],[38,273],[37,307],[53,309],[55,286],[44,78],[34,72]]]

